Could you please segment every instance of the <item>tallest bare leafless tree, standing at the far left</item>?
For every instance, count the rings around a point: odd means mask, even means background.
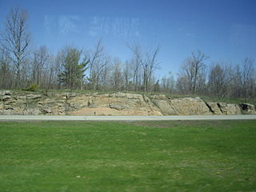
[[[10,51],[14,63],[16,87],[20,85],[21,67],[30,45],[30,34],[27,30],[26,10],[14,7],[6,19],[6,30],[1,34],[3,47]]]

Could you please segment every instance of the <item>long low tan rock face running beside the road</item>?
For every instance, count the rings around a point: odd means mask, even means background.
[[[241,107],[241,108],[240,108]],[[0,114],[45,115],[207,115],[255,114],[250,104],[204,102],[201,98],[168,98],[163,94],[74,94],[52,96],[0,91]]]

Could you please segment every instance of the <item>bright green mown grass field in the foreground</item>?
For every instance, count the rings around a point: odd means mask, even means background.
[[[0,191],[255,191],[256,121],[0,122]]]

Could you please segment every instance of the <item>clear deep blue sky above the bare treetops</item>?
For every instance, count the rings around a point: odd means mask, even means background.
[[[127,42],[160,45],[159,76],[176,74],[193,50],[209,63],[256,58],[255,0],[0,0],[1,29],[11,6],[28,11],[34,45],[54,53],[66,45],[90,49],[102,38],[125,61]]]

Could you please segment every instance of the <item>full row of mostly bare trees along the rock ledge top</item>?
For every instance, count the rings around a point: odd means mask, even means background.
[[[123,62],[106,53],[99,40],[90,50],[65,46],[51,54],[46,46],[31,49],[27,13],[17,7],[10,10],[1,32],[0,89],[40,90],[125,90],[155,91],[170,94],[198,94],[216,97],[255,98],[255,60],[242,63],[209,62],[196,51],[186,58],[177,78],[156,78],[160,47],[143,50],[139,43],[127,46],[130,59]]]

